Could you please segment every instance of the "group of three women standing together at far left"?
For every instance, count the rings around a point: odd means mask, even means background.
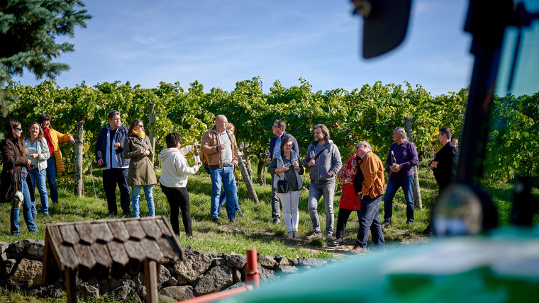
[[[2,174],[0,181],[1,202],[11,202],[11,234],[19,235],[18,217],[21,206],[26,226],[38,231],[34,220],[38,217],[35,207],[35,186],[40,196],[40,212],[49,216],[47,181],[52,203],[58,202],[56,173],[65,171],[59,142],[75,143],[71,134],[62,134],[50,127],[50,116],[42,114],[37,122],[30,123],[28,136],[23,137],[23,127],[18,120],[8,120],[4,126],[4,139],[0,143]]]

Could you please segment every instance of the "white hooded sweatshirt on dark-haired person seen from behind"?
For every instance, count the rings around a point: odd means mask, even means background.
[[[191,146],[177,149],[171,147],[163,149],[157,159],[161,162],[161,178],[159,182],[167,188],[184,188],[187,186],[187,177],[199,171],[198,166],[190,167],[184,155],[191,151]]]

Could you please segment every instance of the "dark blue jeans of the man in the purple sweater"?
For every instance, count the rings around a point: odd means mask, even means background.
[[[389,177],[384,195],[384,222],[391,223],[393,215],[393,198],[402,187],[406,199],[406,222],[413,222],[413,175],[404,177]]]

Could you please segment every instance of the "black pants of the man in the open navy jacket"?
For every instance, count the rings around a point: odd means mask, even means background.
[[[118,215],[116,206],[116,184],[120,188],[120,205],[123,215],[130,215],[129,185],[127,185],[128,168],[109,168],[103,171],[103,188],[105,189],[106,204],[109,214]]]

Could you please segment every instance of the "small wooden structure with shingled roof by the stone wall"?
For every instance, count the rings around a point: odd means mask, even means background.
[[[145,273],[146,302],[157,303],[157,264],[184,260],[184,250],[165,217],[106,219],[47,225],[43,282],[64,278],[67,302],[77,302],[81,280]]]

